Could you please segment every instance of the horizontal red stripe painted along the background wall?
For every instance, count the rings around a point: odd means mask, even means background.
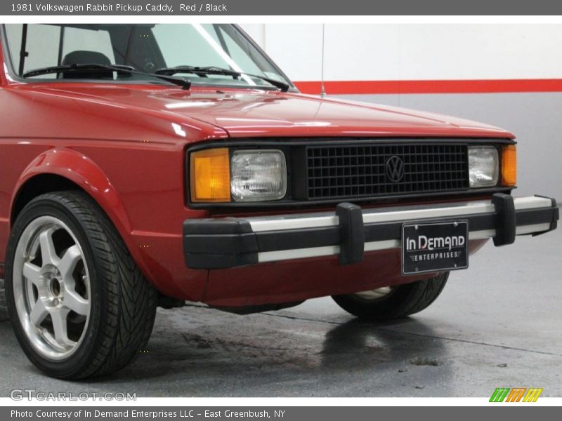
[[[295,82],[302,93],[320,93],[320,81]],[[332,95],[376,93],[562,92],[562,79],[487,79],[442,81],[325,81]]]

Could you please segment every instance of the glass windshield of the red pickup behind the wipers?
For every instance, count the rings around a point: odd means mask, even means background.
[[[189,79],[194,85],[274,88],[256,76],[291,84],[235,25],[9,24],[5,27],[6,51],[13,73],[19,77],[34,69],[60,65],[124,65],[145,73],[192,66],[218,67],[241,75],[178,72],[175,76]],[[26,78],[37,79],[168,83],[126,72],[54,72]]]

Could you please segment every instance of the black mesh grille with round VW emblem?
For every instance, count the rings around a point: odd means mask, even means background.
[[[306,148],[308,199],[467,189],[467,161],[466,145],[311,146]]]

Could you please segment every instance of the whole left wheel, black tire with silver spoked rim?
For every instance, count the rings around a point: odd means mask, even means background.
[[[48,375],[111,373],[148,342],[157,294],[86,194],[38,196],[13,225],[6,300],[27,357]]]

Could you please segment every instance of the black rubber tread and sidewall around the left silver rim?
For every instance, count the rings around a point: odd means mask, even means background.
[[[76,349],[64,359],[49,359],[32,345],[13,293],[16,246],[25,227],[42,216],[57,218],[70,229],[89,273],[89,319]],[[133,361],[150,338],[157,307],[155,288],[117,229],[90,196],[78,191],[43,194],[18,215],[6,252],[6,299],[15,335],[30,361],[48,375],[67,380],[106,375]]]

